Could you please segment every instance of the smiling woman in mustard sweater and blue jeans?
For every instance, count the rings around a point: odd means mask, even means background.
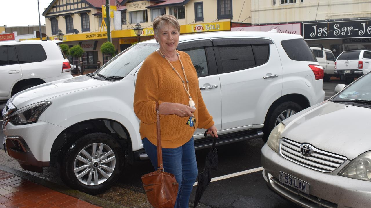
[[[175,175],[179,184],[176,208],[188,207],[197,177],[193,133],[205,128],[217,137],[213,117],[206,109],[198,78],[187,53],[175,50],[180,26],[171,15],[153,20],[154,36],[160,49],[148,56],[138,72],[134,111],[141,120],[139,132],[152,165],[157,170],[155,102],[161,119],[164,171]]]

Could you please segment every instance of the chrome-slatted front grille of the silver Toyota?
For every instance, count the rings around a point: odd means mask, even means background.
[[[312,154],[303,155],[300,152],[301,145],[301,143],[282,138],[279,147],[280,155],[296,164],[321,172],[332,172],[347,160],[344,156],[319,150],[313,146],[311,146]]]

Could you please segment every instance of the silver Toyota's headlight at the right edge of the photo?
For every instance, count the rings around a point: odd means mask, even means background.
[[[371,151],[365,152],[349,162],[338,175],[371,181]]]

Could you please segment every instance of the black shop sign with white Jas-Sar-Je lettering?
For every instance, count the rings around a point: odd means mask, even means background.
[[[368,38],[371,37],[371,20],[303,23],[305,40]]]

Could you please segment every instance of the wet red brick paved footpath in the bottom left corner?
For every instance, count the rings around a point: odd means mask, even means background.
[[[0,170],[0,208],[100,208]]]

